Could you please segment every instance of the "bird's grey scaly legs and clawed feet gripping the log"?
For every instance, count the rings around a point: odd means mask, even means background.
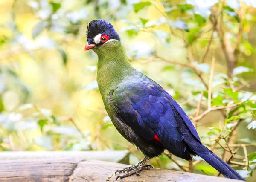
[[[122,179],[122,178],[125,178],[128,176],[131,176],[135,173],[137,176],[140,176],[140,171],[153,169],[153,167],[151,165],[146,165],[150,159],[151,159],[150,157],[145,156],[144,159],[142,159],[137,165],[133,165],[132,167],[130,166],[130,168],[126,167],[126,168],[122,169],[122,171],[124,171],[124,172],[127,171],[127,173],[117,176],[116,180],[118,178]],[[119,172],[119,170],[117,170],[116,172]]]

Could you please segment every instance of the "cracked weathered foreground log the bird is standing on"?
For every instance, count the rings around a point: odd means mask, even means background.
[[[106,182],[124,164],[78,158],[0,161],[0,182]],[[235,182],[233,179],[154,168],[119,179],[122,182]],[[118,174],[117,174],[118,175]],[[116,182],[116,176],[110,178]]]

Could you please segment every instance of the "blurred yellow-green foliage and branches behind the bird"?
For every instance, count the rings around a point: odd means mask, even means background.
[[[0,150],[129,150],[84,52],[87,23],[112,23],[131,64],[161,84],[202,142],[256,173],[255,0],[0,0]],[[219,175],[165,153],[158,168]]]

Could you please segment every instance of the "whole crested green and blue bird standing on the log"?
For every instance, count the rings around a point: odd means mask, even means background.
[[[97,83],[108,116],[116,130],[145,155],[138,164],[116,170],[116,180],[140,176],[142,170],[152,168],[147,165],[150,159],[168,150],[188,161],[200,156],[223,176],[245,181],[201,143],[194,125],[172,96],[131,66],[111,23],[88,23],[84,50],[90,49],[98,55]]]

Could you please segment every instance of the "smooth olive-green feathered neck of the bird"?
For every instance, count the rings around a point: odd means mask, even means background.
[[[116,88],[125,76],[131,75],[134,68],[128,63],[125,50],[120,41],[106,43],[93,49],[98,55],[97,81],[102,98]]]

